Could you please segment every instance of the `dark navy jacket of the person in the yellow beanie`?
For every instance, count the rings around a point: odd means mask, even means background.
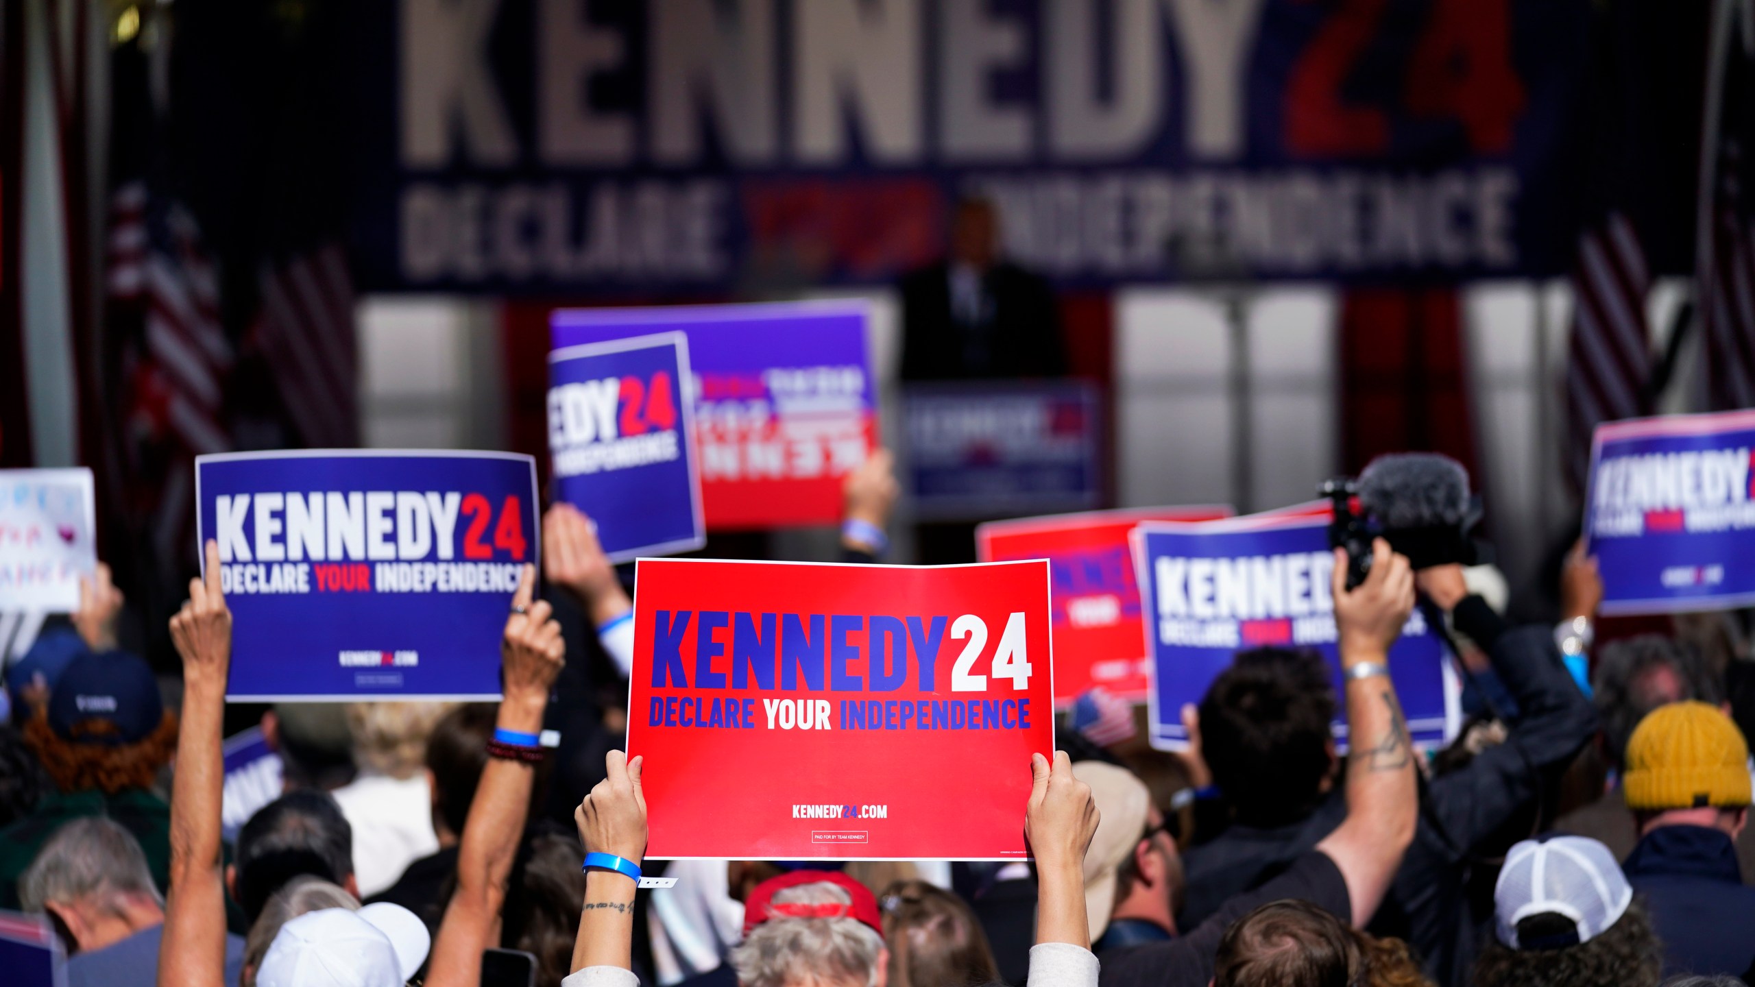
[[[1664,940],[1664,976],[1755,971],[1755,889],[1743,885],[1730,836],[1660,825],[1622,864]]]

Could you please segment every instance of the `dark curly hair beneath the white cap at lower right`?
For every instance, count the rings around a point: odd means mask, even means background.
[[[1541,919],[1536,915],[1525,922]],[[1490,938],[1474,961],[1474,987],[1655,987],[1662,976],[1664,945],[1637,899],[1618,922],[1587,943],[1515,950]]]

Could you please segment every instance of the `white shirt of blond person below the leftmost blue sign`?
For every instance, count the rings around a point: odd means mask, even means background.
[[[362,774],[333,796],[353,827],[353,876],[362,899],[397,883],[414,861],[439,852],[425,771],[407,782]]]

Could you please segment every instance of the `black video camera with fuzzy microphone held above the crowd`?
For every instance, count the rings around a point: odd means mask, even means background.
[[[1350,590],[1371,574],[1376,537],[1406,555],[1415,569],[1492,562],[1492,548],[1471,536],[1481,522],[1481,499],[1469,494],[1469,471],[1450,457],[1381,455],[1357,479],[1325,481],[1322,495],[1334,504],[1329,544],[1346,550]]]

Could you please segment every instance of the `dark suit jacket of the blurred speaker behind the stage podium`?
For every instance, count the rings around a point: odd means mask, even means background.
[[[948,265],[902,277],[902,379],[1064,378],[1060,307],[1048,281],[1014,263],[997,263],[981,286],[992,318],[965,325],[951,313]]]

